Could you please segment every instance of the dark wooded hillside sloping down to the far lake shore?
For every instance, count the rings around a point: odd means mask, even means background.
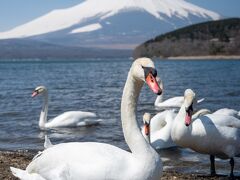
[[[240,18],[187,26],[139,45],[134,57],[240,55]]]

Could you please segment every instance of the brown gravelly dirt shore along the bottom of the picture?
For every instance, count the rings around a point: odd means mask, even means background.
[[[17,167],[21,169],[25,169],[27,165],[32,160],[34,154],[30,152],[1,152],[0,151],[0,180],[16,180],[11,172],[9,167]],[[201,174],[183,174],[174,171],[164,171],[163,180],[190,180],[190,179],[210,179],[210,180],[225,180],[229,179],[226,176],[216,176],[211,177],[209,175],[201,175]],[[240,177],[236,177],[235,179],[240,179]]]

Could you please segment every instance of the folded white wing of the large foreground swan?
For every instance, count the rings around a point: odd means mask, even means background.
[[[62,143],[44,150],[26,170],[46,179],[62,172],[71,179],[125,179],[124,175],[131,177],[129,173],[134,172],[132,167],[138,169],[135,161],[131,153],[108,144]]]

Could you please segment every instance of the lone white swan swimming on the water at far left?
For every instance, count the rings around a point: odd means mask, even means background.
[[[43,107],[39,118],[39,127],[58,128],[97,125],[102,120],[98,119],[95,113],[84,111],[67,111],[47,122],[48,114],[48,91],[44,86],[38,86],[32,93],[32,97],[42,94],[44,97]]]

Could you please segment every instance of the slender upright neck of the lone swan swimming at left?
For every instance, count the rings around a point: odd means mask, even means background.
[[[48,114],[48,92],[46,91],[43,93],[43,106],[39,118],[39,127],[41,129],[45,128],[45,124],[47,123],[47,114]]]

